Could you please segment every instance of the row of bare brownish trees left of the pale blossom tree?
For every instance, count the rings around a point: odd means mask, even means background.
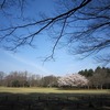
[[[57,77],[41,76],[28,72],[11,72],[6,75],[0,72],[0,86],[6,87],[51,87],[57,84]]]

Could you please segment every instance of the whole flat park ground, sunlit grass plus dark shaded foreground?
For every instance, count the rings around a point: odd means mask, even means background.
[[[0,110],[110,110],[110,90],[0,87]]]

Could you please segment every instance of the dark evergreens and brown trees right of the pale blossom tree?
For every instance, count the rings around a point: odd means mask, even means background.
[[[85,76],[90,88],[110,88],[110,68],[97,67],[95,70],[85,69],[78,74]]]

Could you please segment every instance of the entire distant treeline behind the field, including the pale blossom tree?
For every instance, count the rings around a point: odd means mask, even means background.
[[[97,67],[85,69],[76,75],[57,77],[54,75],[41,76],[28,72],[0,72],[0,86],[6,87],[78,87],[78,88],[110,88],[110,68]]]

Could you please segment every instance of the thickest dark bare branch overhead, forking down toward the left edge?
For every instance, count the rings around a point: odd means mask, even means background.
[[[7,33],[8,31],[10,31],[10,33],[4,34],[4,35],[3,35],[2,37],[0,37],[0,38],[3,40],[3,37],[7,37],[7,36],[11,35],[11,34],[13,34],[13,33],[14,33],[15,31],[18,31],[19,29],[24,29],[24,28],[29,28],[29,26],[33,26],[33,25],[36,25],[36,26],[37,26],[38,24],[42,24],[42,23],[43,23],[43,26],[42,26],[41,29],[38,29],[38,31],[32,33],[31,35],[28,35],[28,36],[24,36],[24,37],[20,38],[21,43],[16,44],[16,45],[12,48],[12,51],[13,51],[13,50],[16,50],[20,45],[22,45],[23,43],[25,43],[28,38],[32,37],[32,38],[31,38],[31,42],[30,42],[30,43],[32,43],[34,36],[37,35],[37,34],[38,34],[40,32],[42,32],[43,30],[45,30],[48,25],[51,25],[52,23],[55,23],[55,22],[57,22],[57,21],[64,20],[66,15],[70,16],[70,15],[73,14],[73,12],[75,12],[75,11],[77,11],[78,9],[82,8],[84,6],[86,6],[87,3],[89,3],[90,1],[91,1],[91,0],[82,0],[82,2],[79,4],[79,7],[74,8],[74,9],[72,9],[72,10],[69,10],[69,11],[63,13],[63,14],[59,14],[59,15],[55,16],[55,18],[50,18],[50,19],[36,21],[36,22],[34,22],[34,23],[24,24],[24,25],[19,25],[19,26],[16,25],[16,26],[10,26],[10,28],[7,28],[7,29],[1,29],[1,30],[0,30],[1,32],[6,32],[6,33]],[[61,32],[61,35],[62,35],[62,32]],[[62,37],[61,35],[59,35],[59,37]],[[58,38],[59,38],[59,37],[58,37]],[[24,42],[24,41],[25,41],[25,42]],[[57,41],[58,41],[58,40],[57,40]],[[57,43],[55,44],[55,46],[56,46],[56,45],[57,45]],[[55,46],[54,46],[54,50],[55,50]],[[54,52],[54,51],[53,51],[53,52]]]

